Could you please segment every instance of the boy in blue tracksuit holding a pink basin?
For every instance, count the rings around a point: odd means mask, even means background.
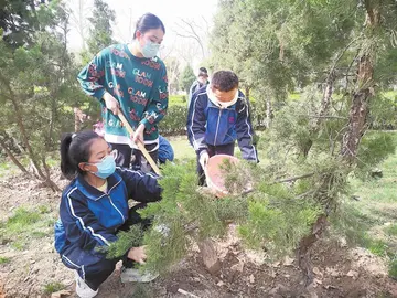
[[[238,77],[230,71],[214,73],[211,84],[192,98],[187,116],[187,138],[197,153],[200,184],[204,167],[214,155],[234,155],[237,140],[243,158],[259,162],[254,143],[249,104],[238,89]]]

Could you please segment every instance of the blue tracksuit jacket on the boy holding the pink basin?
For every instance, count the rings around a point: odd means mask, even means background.
[[[198,89],[189,107],[186,129],[189,141],[197,155],[206,150],[207,145],[227,145],[237,139],[243,158],[259,161],[254,145],[249,103],[240,91],[236,104],[222,109],[208,99],[206,86]]]

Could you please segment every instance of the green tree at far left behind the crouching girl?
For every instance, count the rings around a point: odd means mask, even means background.
[[[37,28],[45,30],[35,31],[29,46],[13,50],[0,42],[0,100],[4,107],[0,126],[21,143],[34,175],[58,190],[50,178],[47,152],[57,148],[61,131],[73,130],[72,106],[84,96],[75,79],[77,67],[66,49],[68,11],[52,1],[32,13]],[[20,167],[22,157],[11,159]]]

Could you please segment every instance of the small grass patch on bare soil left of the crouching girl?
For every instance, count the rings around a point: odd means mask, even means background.
[[[17,251],[24,251],[32,238],[43,238],[52,234],[55,219],[45,205],[35,210],[19,207],[0,223],[0,237]]]

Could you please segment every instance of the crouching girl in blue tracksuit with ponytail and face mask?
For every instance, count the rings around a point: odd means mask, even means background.
[[[118,259],[107,259],[98,247],[117,240],[120,230],[140,223],[148,226],[137,210],[160,200],[157,177],[116,168],[110,146],[94,131],[66,134],[61,142],[61,170],[73,179],[61,199],[55,224],[55,248],[62,262],[76,270],[76,292],[82,298],[95,297],[98,287],[114,272]],[[128,199],[140,204],[129,209]],[[121,279],[149,281],[139,275],[131,262],[142,263],[143,247],[131,247],[122,258]]]

